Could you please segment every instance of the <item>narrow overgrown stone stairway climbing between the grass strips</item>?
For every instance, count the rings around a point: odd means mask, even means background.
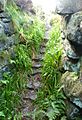
[[[36,56],[32,58],[32,74],[30,79],[27,80],[27,89],[24,91],[22,96],[22,120],[33,120],[31,113],[36,108],[33,101],[37,98],[37,91],[41,88],[41,75],[42,75],[42,62],[44,59],[46,43],[49,40],[49,29],[46,26],[46,32],[44,40],[42,41],[39,52]]]

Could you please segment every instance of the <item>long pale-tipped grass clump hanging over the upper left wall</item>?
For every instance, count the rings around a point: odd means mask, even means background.
[[[37,51],[44,36],[44,22],[37,16],[28,16],[14,4],[7,8],[9,15],[20,39],[20,43],[26,44],[33,51]]]

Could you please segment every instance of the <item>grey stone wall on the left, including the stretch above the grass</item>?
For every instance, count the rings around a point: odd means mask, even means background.
[[[6,11],[7,4],[13,4],[13,2],[27,14],[35,14],[31,0],[0,0],[0,80],[3,79],[4,73],[11,74],[11,69],[15,68],[10,64],[10,60],[14,58],[14,48],[19,42],[12,18]]]

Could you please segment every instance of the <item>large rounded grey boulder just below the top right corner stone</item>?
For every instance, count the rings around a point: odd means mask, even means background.
[[[67,24],[66,36],[67,39],[82,45],[82,11],[73,14]]]

